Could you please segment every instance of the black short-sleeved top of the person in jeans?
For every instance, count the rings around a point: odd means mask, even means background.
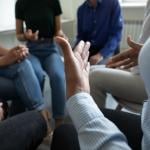
[[[26,29],[39,30],[39,37],[52,38],[55,16],[62,13],[59,0],[17,0],[16,19],[25,21]]]

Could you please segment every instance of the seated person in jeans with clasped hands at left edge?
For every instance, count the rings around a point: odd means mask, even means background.
[[[39,111],[47,120],[48,132],[50,132],[50,115],[44,104],[39,80],[30,61],[26,59],[28,54],[28,48],[24,45],[11,49],[0,47],[0,76],[13,80],[24,107]]]

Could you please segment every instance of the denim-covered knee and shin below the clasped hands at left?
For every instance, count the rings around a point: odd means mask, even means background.
[[[28,109],[43,109],[44,101],[39,80],[29,60],[22,61],[17,68],[16,89]]]

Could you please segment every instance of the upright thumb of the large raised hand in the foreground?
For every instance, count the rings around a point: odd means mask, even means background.
[[[73,51],[71,48],[71,45],[69,44],[69,42],[59,36],[55,37],[55,41],[60,45],[60,47],[62,48],[63,54],[64,54],[64,59],[72,59],[73,55]]]

